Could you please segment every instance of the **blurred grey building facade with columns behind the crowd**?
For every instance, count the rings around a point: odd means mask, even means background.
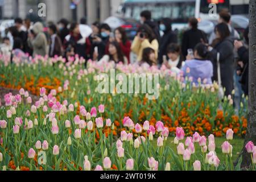
[[[103,21],[114,15],[123,0],[0,0],[0,18],[26,18],[37,16],[38,4],[46,4],[43,20],[57,22],[61,18],[79,21],[85,18],[88,24]],[[74,6],[74,3],[77,3]],[[75,7],[75,9],[74,9]]]

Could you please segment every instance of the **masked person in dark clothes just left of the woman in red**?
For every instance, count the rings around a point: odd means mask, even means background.
[[[103,23],[100,26],[100,36],[95,36],[94,44],[97,47],[97,52],[94,51],[94,56],[96,60],[101,60],[101,58],[109,53],[109,38],[111,34],[111,28],[108,24]]]

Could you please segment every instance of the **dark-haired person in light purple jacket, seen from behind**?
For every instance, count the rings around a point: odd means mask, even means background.
[[[204,84],[212,84],[213,65],[208,60],[209,52],[207,46],[202,43],[198,43],[194,48],[194,58],[185,61],[185,64],[181,70],[184,77],[192,77],[192,82],[198,85],[198,80],[204,82]],[[200,79],[199,79],[200,78]]]

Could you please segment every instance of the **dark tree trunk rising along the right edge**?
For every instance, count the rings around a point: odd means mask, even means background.
[[[241,168],[251,164],[250,155],[245,145],[252,141],[256,145],[256,1],[249,2],[249,106],[247,114],[247,131],[243,144]],[[240,155],[240,156],[241,156]]]

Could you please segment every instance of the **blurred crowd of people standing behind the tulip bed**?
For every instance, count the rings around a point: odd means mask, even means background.
[[[196,18],[190,18],[189,29],[183,32],[180,44],[172,30],[171,19],[163,18],[156,23],[147,10],[141,13],[141,25],[132,41],[127,38],[125,28],[112,30],[106,23],[94,22],[90,25],[92,32],[86,35],[80,28],[85,19],[81,19],[80,24],[69,23],[66,19],[57,24],[48,23],[46,32],[40,22],[31,25],[29,19],[16,18],[15,26],[9,28],[0,48],[4,54],[11,53],[24,59],[35,55],[66,59],[79,55],[99,64],[114,61],[148,67],[165,65],[176,73],[183,71],[183,75],[192,78],[196,84],[200,79],[205,84],[221,81],[226,96],[232,94],[234,86],[240,86],[240,90],[248,94],[248,28],[241,41],[238,32],[230,25],[230,13],[223,10],[219,15],[218,24],[210,36],[197,28]],[[136,61],[131,60],[131,53]],[[218,61],[220,73],[217,71]]]

